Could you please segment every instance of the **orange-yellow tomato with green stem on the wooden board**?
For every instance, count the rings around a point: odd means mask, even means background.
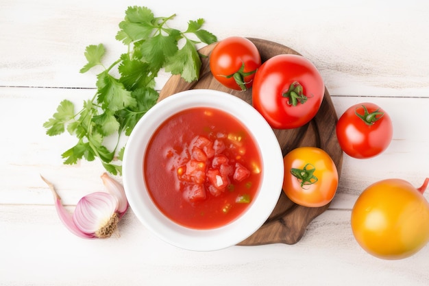
[[[328,204],[338,187],[338,171],[332,158],[317,147],[297,147],[283,158],[283,191],[302,206]]]

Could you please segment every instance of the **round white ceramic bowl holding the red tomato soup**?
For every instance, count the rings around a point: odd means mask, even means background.
[[[218,108],[241,121],[254,136],[262,157],[260,190],[252,204],[230,224],[208,230],[186,228],[164,216],[151,200],[143,178],[145,149],[160,123],[180,110],[199,106]],[[267,121],[242,99],[208,89],[176,93],[152,107],[130,134],[123,158],[123,184],[132,211],[160,239],[187,250],[219,250],[234,246],[252,235],[278,202],[283,176],[282,151]]]

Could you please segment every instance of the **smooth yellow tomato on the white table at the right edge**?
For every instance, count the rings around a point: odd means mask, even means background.
[[[360,194],[352,210],[356,241],[381,259],[403,259],[429,241],[429,204],[423,196],[429,179],[416,189],[406,180],[381,180]]]

